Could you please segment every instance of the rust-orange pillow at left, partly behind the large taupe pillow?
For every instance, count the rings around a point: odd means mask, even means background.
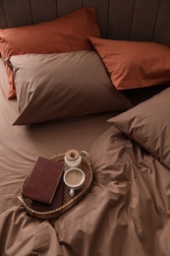
[[[26,53],[55,53],[93,49],[86,36],[100,36],[95,11],[83,8],[50,22],[0,30],[0,52],[4,59]],[[11,70],[7,70],[9,98],[16,97]]]

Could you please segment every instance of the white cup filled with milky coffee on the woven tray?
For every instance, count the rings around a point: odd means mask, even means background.
[[[75,196],[75,190],[80,189],[85,182],[85,172],[78,167],[72,167],[65,171],[64,182],[70,188],[70,196]]]

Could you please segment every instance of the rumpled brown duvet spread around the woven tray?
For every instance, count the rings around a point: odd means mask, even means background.
[[[57,221],[0,215],[1,255],[169,255],[170,171],[117,128],[88,149],[94,179]]]

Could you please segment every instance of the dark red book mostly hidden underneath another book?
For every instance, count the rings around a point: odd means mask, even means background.
[[[64,181],[61,178],[51,204],[32,200],[31,209],[37,212],[49,212],[60,208],[63,205]]]

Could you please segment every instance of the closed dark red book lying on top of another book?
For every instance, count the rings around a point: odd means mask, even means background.
[[[63,170],[63,162],[38,157],[23,189],[24,197],[51,204]]]

